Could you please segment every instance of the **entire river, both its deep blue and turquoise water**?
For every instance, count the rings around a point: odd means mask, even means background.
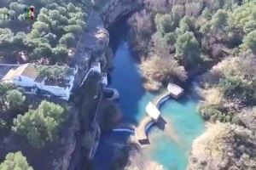
[[[144,116],[145,106],[156,94],[151,94],[143,88],[143,77],[127,42],[128,26],[125,22],[114,26],[110,35],[114,52],[110,87],[119,90],[119,107],[123,112],[123,122],[137,124]],[[204,131],[204,122],[197,112],[198,102],[193,89],[186,89],[181,99],[167,100],[160,108],[161,116],[167,122],[166,130],[163,132],[157,127],[150,129],[150,145],[143,147],[143,154],[166,170],[185,170],[191,144]],[[129,136],[129,133],[120,132],[102,134],[96,151],[96,169],[112,169],[109,166],[113,155],[126,144]]]

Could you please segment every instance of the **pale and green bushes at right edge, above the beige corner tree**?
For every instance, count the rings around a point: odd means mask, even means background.
[[[255,55],[224,59],[202,77],[206,101],[201,113],[206,120],[241,124],[238,114],[256,104]]]

